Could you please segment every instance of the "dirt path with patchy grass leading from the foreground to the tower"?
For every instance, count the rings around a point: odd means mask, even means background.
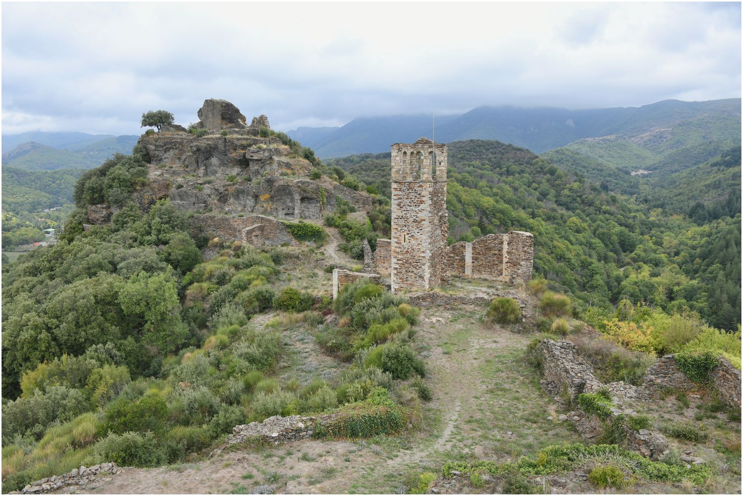
[[[424,407],[421,431],[358,442],[287,443],[128,469],[86,491],[246,494],[270,486],[277,493],[389,493],[409,471],[436,470],[455,454],[513,458],[577,440],[566,425],[547,420],[552,402],[522,361],[528,336],[481,324],[481,314],[478,308],[424,310],[415,339],[427,355],[434,398]],[[303,359],[317,353],[305,344],[296,351]]]

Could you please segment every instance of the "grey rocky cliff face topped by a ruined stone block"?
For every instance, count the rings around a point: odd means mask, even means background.
[[[194,212],[284,219],[319,220],[340,200],[361,212],[371,209],[366,192],[309,179],[311,164],[290,146],[275,136],[253,135],[253,127],[267,127],[267,117],[245,125],[239,109],[224,100],[207,100],[198,115],[201,128],[215,128],[207,136],[170,126],[140,138],[149,153],[149,186],[137,192],[144,210],[160,198]],[[98,212],[97,218],[105,217]]]

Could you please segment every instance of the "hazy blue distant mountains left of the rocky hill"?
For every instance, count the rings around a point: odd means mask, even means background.
[[[57,136],[58,134],[62,136]],[[5,143],[15,143],[19,136],[30,137],[32,135],[36,135],[47,143],[57,143],[61,148],[36,141],[23,142],[10,150],[3,148],[2,165],[13,165],[13,167],[27,171],[91,169],[100,166],[114,153],[131,153],[139,139],[134,135],[24,133],[2,137],[3,146]],[[97,140],[88,143],[86,137],[95,137]]]

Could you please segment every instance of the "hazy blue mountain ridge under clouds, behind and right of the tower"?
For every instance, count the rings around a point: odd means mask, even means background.
[[[611,137],[665,154],[709,141],[740,138],[741,99],[681,102],[642,107],[478,107],[461,116],[436,117],[436,140],[499,140],[535,153],[591,137]],[[389,145],[431,137],[431,116],[364,117],[340,128],[299,128],[288,134],[322,158],[389,151]]]

